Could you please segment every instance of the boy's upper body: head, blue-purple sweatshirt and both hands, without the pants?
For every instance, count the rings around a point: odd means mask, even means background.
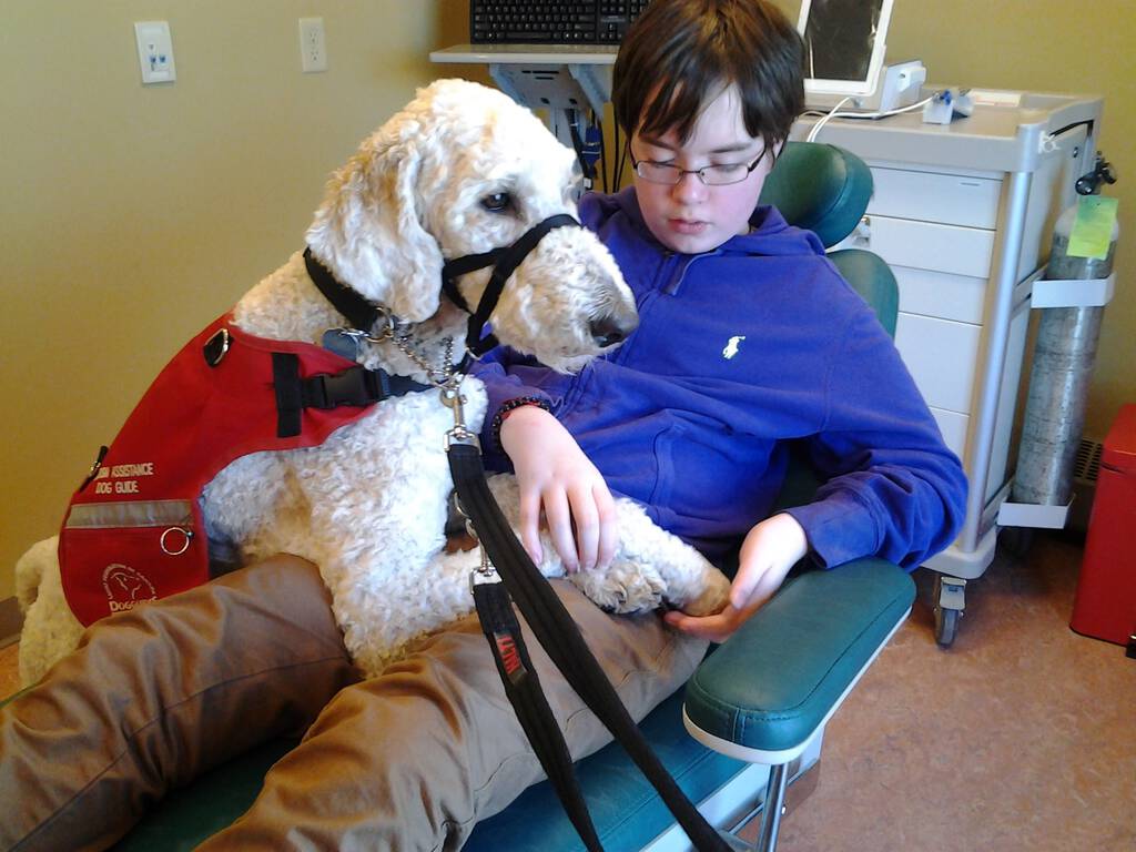
[[[613,73],[635,185],[580,202],[640,328],[577,376],[509,352],[478,373],[483,443],[513,463],[534,558],[543,516],[566,565],[609,560],[609,486],[710,556],[744,536],[726,610],[666,616],[716,642],[807,552],[914,568],[951,542],[964,500],[958,459],[870,309],[812,234],[757,208],[803,106],[787,28],[761,3],[649,7]],[[816,502],[767,518],[792,438],[832,478]]]

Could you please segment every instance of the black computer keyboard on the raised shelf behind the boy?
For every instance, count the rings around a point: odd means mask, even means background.
[[[618,44],[650,0],[470,0],[475,44]]]

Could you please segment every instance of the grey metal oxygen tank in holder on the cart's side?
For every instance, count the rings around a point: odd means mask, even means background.
[[[1070,257],[1069,235],[1076,218],[1074,204],[1058,219],[1046,279],[1106,278],[1112,273],[1119,225],[1112,225],[1104,259]],[[1066,506],[1071,499],[1103,312],[1103,307],[1041,311],[1013,483],[1014,502]]]

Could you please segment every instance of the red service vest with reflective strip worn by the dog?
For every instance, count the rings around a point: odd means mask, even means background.
[[[229,315],[190,341],[72,498],[59,567],[75,617],[90,625],[209,579],[201,490],[242,456],[316,446],[359,418],[374,395],[324,408],[301,393],[304,382],[359,373],[317,345],[245,334]]]

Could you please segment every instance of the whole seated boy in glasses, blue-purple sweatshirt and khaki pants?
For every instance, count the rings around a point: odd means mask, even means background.
[[[543,513],[566,561],[609,559],[604,479],[710,553],[744,536],[732,605],[668,616],[677,630],[553,584],[636,718],[807,550],[828,565],[875,552],[916,565],[961,513],[958,461],[867,307],[815,237],[754,212],[801,108],[800,69],[796,33],[759,0],[654,0],[616,67],[636,186],[580,208],[636,291],[640,331],[575,377],[507,356],[483,370],[531,550]],[[861,410],[858,394],[886,410]],[[809,438],[838,476],[817,508],[760,520],[787,437]],[[603,745],[529,649],[573,754]],[[294,558],[108,619],[6,710],[0,846],[105,846],[170,786],[306,728],[249,813],[201,849],[457,849],[540,778],[475,618],[353,679],[318,573]]]

